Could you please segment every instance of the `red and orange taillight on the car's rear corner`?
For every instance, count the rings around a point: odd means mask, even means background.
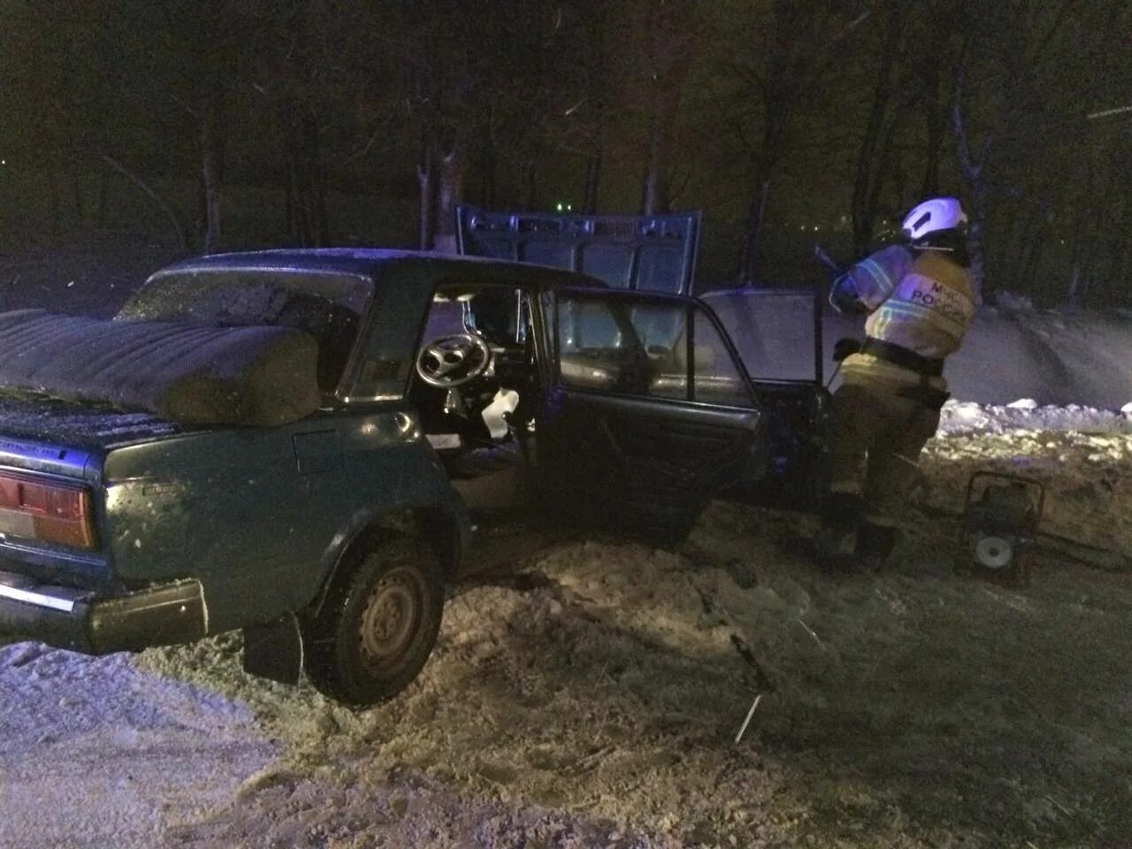
[[[0,533],[94,548],[91,491],[82,484],[0,472]]]

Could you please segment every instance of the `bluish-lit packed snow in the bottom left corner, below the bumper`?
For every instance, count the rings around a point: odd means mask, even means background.
[[[0,648],[0,846],[156,847],[281,746],[214,692],[35,643]]]

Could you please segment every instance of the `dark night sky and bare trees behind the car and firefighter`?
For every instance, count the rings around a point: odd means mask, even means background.
[[[983,228],[988,291],[1129,300],[1124,2],[5,6],[10,245],[181,229],[200,248],[211,221],[212,248],[413,246],[424,175],[426,239],[447,195],[697,208],[702,280],[747,252],[777,281],[940,192]]]

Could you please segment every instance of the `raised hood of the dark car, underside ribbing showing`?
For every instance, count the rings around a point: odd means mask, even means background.
[[[700,213],[575,215],[456,207],[461,254],[584,272],[616,289],[689,294]]]

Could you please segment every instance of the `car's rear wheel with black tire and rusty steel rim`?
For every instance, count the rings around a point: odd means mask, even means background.
[[[436,644],[444,611],[440,558],[427,543],[395,538],[335,585],[303,623],[303,666],[323,694],[366,706],[395,696]]]

